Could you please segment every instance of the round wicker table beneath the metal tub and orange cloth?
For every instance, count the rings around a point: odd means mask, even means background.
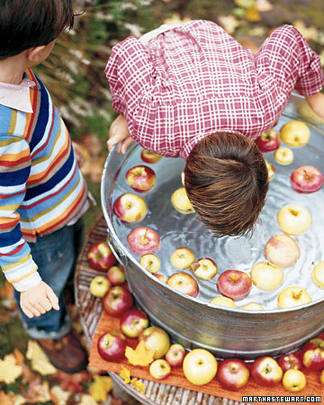
[[[103,214],[101,214],[87,232],[76,267],[74,283],[75,301],[77,308],[79,309],[80,321],[89,349],[102,312],[100,298],[96,298],[90,293],[89,286],[93,277],[96,275],[102,275],[102,273],[90,268],[87,263],[87,250],[92,243],[106,238],[107,225]],[[146,385],[145,394],[143,395],[129,384],[124,384],[124,380],[119,377],[118,374],[109,374],[113,381],[123,388],[124,391],[141,403],[147,405],[243,405],[243,403],[232,401],[227,398],[220,398],[203,394],[202,392],[186,390],[184,388],[141,379],[140,381]]]

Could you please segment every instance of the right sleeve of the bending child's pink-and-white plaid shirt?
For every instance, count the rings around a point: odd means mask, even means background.
[[[320,57],[293,26],[276,28],[256,54],[257,67],[275,76],[289,92],[312,96],[322,90],[324,78]]]

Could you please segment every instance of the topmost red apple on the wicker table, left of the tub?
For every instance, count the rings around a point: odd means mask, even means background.
[[[117,260],[107,241],[92,243],[87,252],[87,260],[92,269],[107,271]]]

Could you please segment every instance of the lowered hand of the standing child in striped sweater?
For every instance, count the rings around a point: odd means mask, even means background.
[[[40,281],[37,286],[20,293],[20,307],[28,318],[39,316],[52,308],[60,309],[58,297],[44,281]]]

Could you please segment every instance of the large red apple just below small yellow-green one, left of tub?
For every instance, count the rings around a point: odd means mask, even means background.
[[[111,316],[119,316],[133,305],[132,294],[122,286],[115,286],[102,297],[102,308]]]

